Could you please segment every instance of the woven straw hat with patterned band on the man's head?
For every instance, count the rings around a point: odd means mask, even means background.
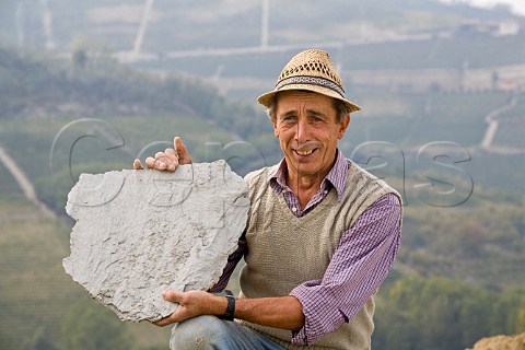
[[[295,55],[282,69],[277,79],[276,89],[260,95],[257,101],[269,107],[273,95],[287,90],[316,92],[342,101],[350,112],[361,109],[345,96],[341,78],[330,56],[324,50],[311,49]]]

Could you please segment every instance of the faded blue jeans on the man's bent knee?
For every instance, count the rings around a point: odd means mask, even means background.
[[[284,350],[270,339],[215,316],[197,316],[176,324],[170,338],[172,350]]]

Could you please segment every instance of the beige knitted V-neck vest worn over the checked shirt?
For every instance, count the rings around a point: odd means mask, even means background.
[[[305,281],[323,279],[342,232],[382,196],[393,192],[399,197],[386,183],[352,163],[340,200],[331,189],[313,211],[296,218],[282,196],[277,196],[269,186],[269,178],[276,171],[277,165],[250,173],[245,178],[252,207],[246,231],[248,254],[241,272],[241,298],[284,296]],[[373,313],[371,296],[348,324],[307,348],[370,349]],[[290,342],[290,330],[243,324],[287,349],[306,348]]]

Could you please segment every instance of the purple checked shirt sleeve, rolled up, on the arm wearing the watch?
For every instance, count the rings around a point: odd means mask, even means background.
[[[392,194],[368,208],[342,233],[323,280],[292,290],[303,305],[305,324],[292,342],[312,345],[350,322],[388,275],[399,249],[401,206]]]

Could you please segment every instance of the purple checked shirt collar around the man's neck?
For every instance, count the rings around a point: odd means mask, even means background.
[[[342,152],[338,149],[336,163],[328,172],[326,177],[320,183],[320,189],[327,189],[329,186],[334,187],[337,192],[337,198],[342,196],[345,191],[345,186],[347,183],[347,173],[350,167],[349,161],[345,158]],[[279,166],[276,168],[275,173],[270,176],[270,186],[273,190],[280,195],[283,190],[289,189],[287,185],[287,178],[284,174],[287,173],[287,161],[282,159]]]

